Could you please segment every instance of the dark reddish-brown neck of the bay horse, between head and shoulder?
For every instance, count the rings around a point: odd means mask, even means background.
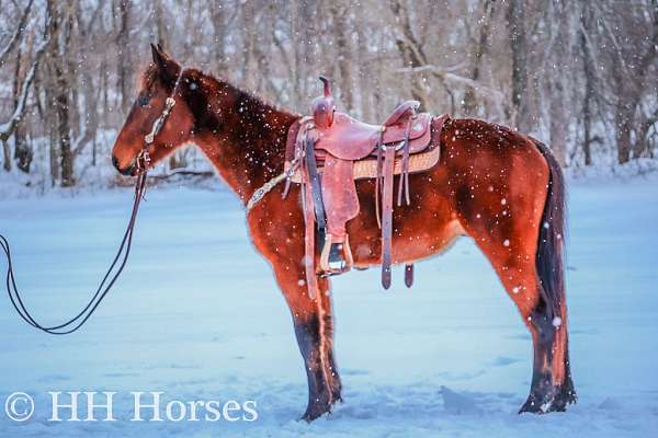
[[[280,111],[230,85],[206,106],[216,126],[202,129],[198,146],[231,189],[247,201],[266,181],[283,172],[287,129],[297,116]]]

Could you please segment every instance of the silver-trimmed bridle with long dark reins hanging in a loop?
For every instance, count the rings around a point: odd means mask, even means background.
[[[133,234],[135,232],[135,223],[137,221],[137,212],[139,211],[139,205],[146,195],[146,180],[147,173],[150,164],[150,157],[148,153],[149,146],[155,141],[158,134],[164,126],[167,118],[171,114],[173,106],[175,105],[175,94],[178,93],[178,89],[181,82],[181,78],[183,77],[184,70],[181,67],[179,76],[175,80],[175,84],[169,97],[164,103],[164,108],[160,116],[156,118],[151,130],[144,137],[144,145],[141,150],[136,157],[135,161],[135,199],[133,200],[133,211],[131,214],[131,219],[128,220],[128,226],[126,227],[126,231],[118,246],[118,251],[116,252],[116,256],[114,261],[110,265],[103,280],[99,285],[97,291],[92,296],[91,300],[87,303],[87,306],[73,318],[70,320],[52,326],[44,326],[36,322],[36,320],[32,316],[32,314],[25,308],[23,303],[23,299],[21,298],[21,293],[16,287],[16,279],[13,272],[13,264],[11,260],[11,249],[9,246],[9,241],[2,234],[0,234],[0,246],[4,254],[7,255],[7,293],[9,295],[9,299],[13,308],[16,310],[21,319],[25,321],[27,324],[32,325],[34,328],[41,330],[42,332],[52,334],[52,335],[66,335],[69,333],[73,333],[78,331],[93,314],[93,312],[98,309],[99,304],[110,289],[114,286],[118,276],[123,273],[126,263],[128,262],[128,256],[131,254],[131,249],[133,245]],[[116,272],[113,273],[116,267]]]

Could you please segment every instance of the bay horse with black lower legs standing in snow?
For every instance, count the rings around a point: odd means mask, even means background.
[[[150,164],[193,143],[235,194],[247,200],[283,172],[288,127],[299,115],[196,69],[183,69],[151,46],[152,62],[118,134],[112,160],[135,174],[144,138],[173,97],[169,118],[148,147]],[[439,164],[410,175],[411,207],[395,210],[393,261],[413,263],[470,237],[498,274],[532,334],[533,377],[521,412],[565,411],[576,402],[568,355],[563,247],[565,186],[560,168],[538,141],[477,119],[449,119],[440,138]],[[374,205],[375,184],[356,182],[360,215],[348,224],[355,267],[381,263]],[[282,199],[266,194],[247,215],[256,249],[270,263],[290,307],[308,378],[313,420],[341,401],[333,355],[333,314],[329,278],[310,298],[305,285],[304,218],[300,191]],[[420,206],[420,208],[419,208]],[[317,264],[316,264],[317,266]]]

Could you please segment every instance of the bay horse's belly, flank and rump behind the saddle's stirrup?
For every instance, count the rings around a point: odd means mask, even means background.
[[[518,228],[512,211],[533,222],[541,216],[549,171],[531,138],[484,120],[451,119],[441,139],[432,139],[439,140],[439,164],[410,175],[411,205],[395,208],[395,263],[441,253],[483,227]],[[374,191],[373,181],[358,182],[361,211],[348,224],[358,266],[379,263]]]

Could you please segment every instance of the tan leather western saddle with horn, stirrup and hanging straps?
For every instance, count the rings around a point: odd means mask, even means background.
[[[329,81],[320,77],[324,94],[311,104],[311,116],[288,130],[283,196],[291,183],[302,184],[306,280],[309,296],[317,291],[315,239],[320,246],[319,274],[342,274],[353,265],[347,222],[359,215],[355,180],[375,180],[375,208],[382,229],[382,285],[390,287],[394,176],[399,175],[397,205],[410,205],[409,173],[427,171],[439,162],[441,129],[447,115],[433,118],[418,113],[420,103],[398,105],[379,126],[359,122],[336,111]],[[405,267],[405,284],[413,281],[413,266]]]

